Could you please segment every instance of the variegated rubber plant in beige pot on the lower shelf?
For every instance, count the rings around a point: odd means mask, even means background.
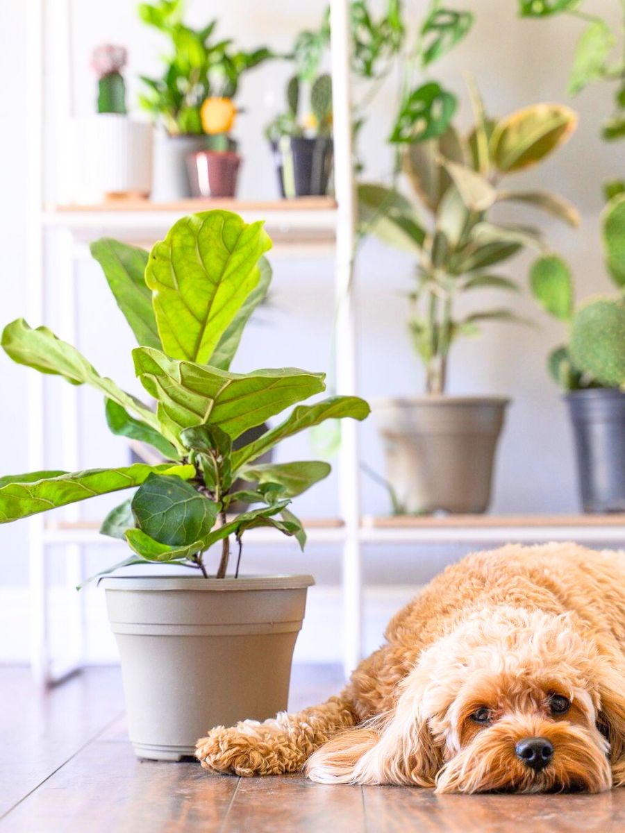
[[[517,292],[517,283],[500,274],[500,267],[524,247],[546,250],[537,229],[495,222],[493,208],[522,202],[572,225],[578,222],[577,212],[561,197],[498,187],[502,177],[541,162],[562,144],[575,127],[575,114],[557,104],[536,104],[493,120],[477,91],[472,97],[475,125],[468,135],[448,127],[441,137],[399,146],[428,224],[395,188],[359,187],[363,233],[412,252],[418,261],[409,328],[425,366],[426,395],[387,399],[376,407],[388,481],[408,512],[488,508],[508,400],[449,396],[448,357],[458,338],[477,335],[483,322],[519,317],[508,307],[463,313],[458,305],[481,289]]]

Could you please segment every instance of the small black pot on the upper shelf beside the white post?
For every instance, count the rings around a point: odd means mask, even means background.
[[[333,166],[333,142],[329,137],[315,139],[283,136],[272,142],[282,197],[323,197]]]

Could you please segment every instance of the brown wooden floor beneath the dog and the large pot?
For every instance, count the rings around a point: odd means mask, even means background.
[[[294,670],[291,708],[340,686]],[[39,696],[0,667],[0,833],[569,833],[625,831],[625,790],[599,796],[435,796],[403,787],[321,786],[300,776],[209,776],[192,762],[137,761],[116,668]]]

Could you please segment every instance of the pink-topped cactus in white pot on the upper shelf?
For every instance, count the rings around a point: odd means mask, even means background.
[[[105,44],[92,53],[97,74],[97,114],[73,120],[72,154],[77,202],[149,197],[153,128],[128,116],[124,47]]]

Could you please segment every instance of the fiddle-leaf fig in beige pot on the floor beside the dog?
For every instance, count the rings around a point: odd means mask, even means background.
[[[188,576],[148,571],[102,581],[138,756],[178,760],[193,754],[208,726],[263,720],[287,706],[293,646],[313,579],[240,576],[241,547],[244,533],[258,526],[295,536],[303,546],[305,533],[289,504],[327,476],[329,466],[263,465],[258,458],[324,420],[368,415],[357,397],[298,404],[323,392],[323,373],[229,371],[243,327],[267,292],[271,272],[263,254],[270,246],[262,222],[248,225],[223,211],[179,220],[149,256],[113,240],[94,244],[140,345],[134,367],[156,412],[100,376],[47,327],[33,330],[18,320],[2,333],[13,361],[94,387],[104,394],[113,433],[147,442],[166,458],[154,466],[0,479],[0,521],[135,489],[102,524],[104,535],[125,540],[129,550],[105,572],[188,568]],[[292,405],[278,425],[233,450],[244,431]],[[245,491],[233,491],[239,476],[251,484]],[[248,508],[231,516],[233,501]]]

